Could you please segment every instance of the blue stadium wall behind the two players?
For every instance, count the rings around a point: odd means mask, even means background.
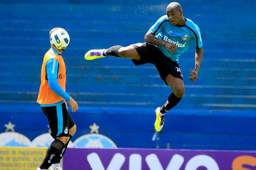
[[[154,110],[171,93],[154,66],[83,56],[89,49],[143,42],[169,1],[0,1],[0,132],[8,122],[31,140],[48,132],[36,98],[49,30],[62,27],[71,38],[63,53],[67,92],[79,105],[72,113],[73,140],[96,123],[118,147],[255,150],[256,2],[179,3],[201,28],[204,60],[198,79],[190,82],[193,45],[180,57],[185,95],[151,141]]]

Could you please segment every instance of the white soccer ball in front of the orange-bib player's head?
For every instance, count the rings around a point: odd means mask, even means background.
[[[68,32],[63,29],[57,29],[51,33],[50,43],[57,49],[66,49],[69,41]]]

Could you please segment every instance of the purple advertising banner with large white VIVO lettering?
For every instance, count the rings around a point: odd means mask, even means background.
[[[66,169],[256,170],[256,151],[68,148]]]

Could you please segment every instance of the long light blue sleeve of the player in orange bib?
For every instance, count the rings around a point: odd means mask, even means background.
[[[51,59],[46,63],[46,73],[47,79],[49,83],[50,89],[52,89],[55,94],[59,95],[60,97],[66,99],[67,101],[71,98],[66,91],[64,91],[60,84],[58,83],[58,69],[59,63],[55,59]]]

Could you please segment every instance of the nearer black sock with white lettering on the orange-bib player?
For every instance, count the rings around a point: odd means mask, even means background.
[[[45,158],[40,168],[48,169],[55,162],[56,159],[58,160],[64,146],[65,145],[62,141],[55,139],[51,143],[50,147],[47,149]]]

